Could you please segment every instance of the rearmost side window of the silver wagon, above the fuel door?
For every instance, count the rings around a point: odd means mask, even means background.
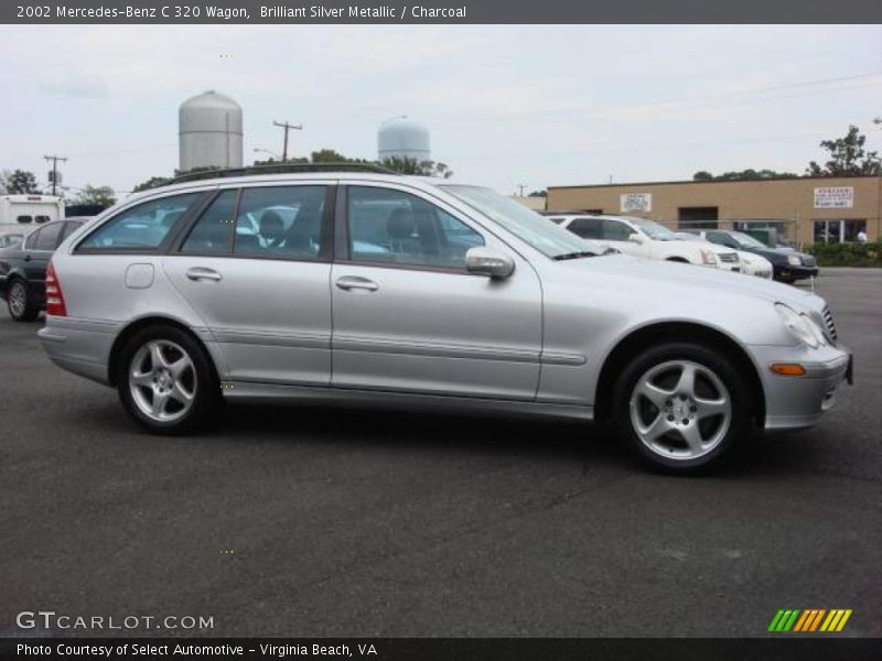
[[[77,250],[152,252],[160,247],[201,195],[201,193],[171,195],[120,212],[86,237]]]

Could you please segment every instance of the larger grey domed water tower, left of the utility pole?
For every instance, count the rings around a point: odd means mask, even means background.
[[[241,167],[241,106],[209,89],[181,104],[179,170]]]

